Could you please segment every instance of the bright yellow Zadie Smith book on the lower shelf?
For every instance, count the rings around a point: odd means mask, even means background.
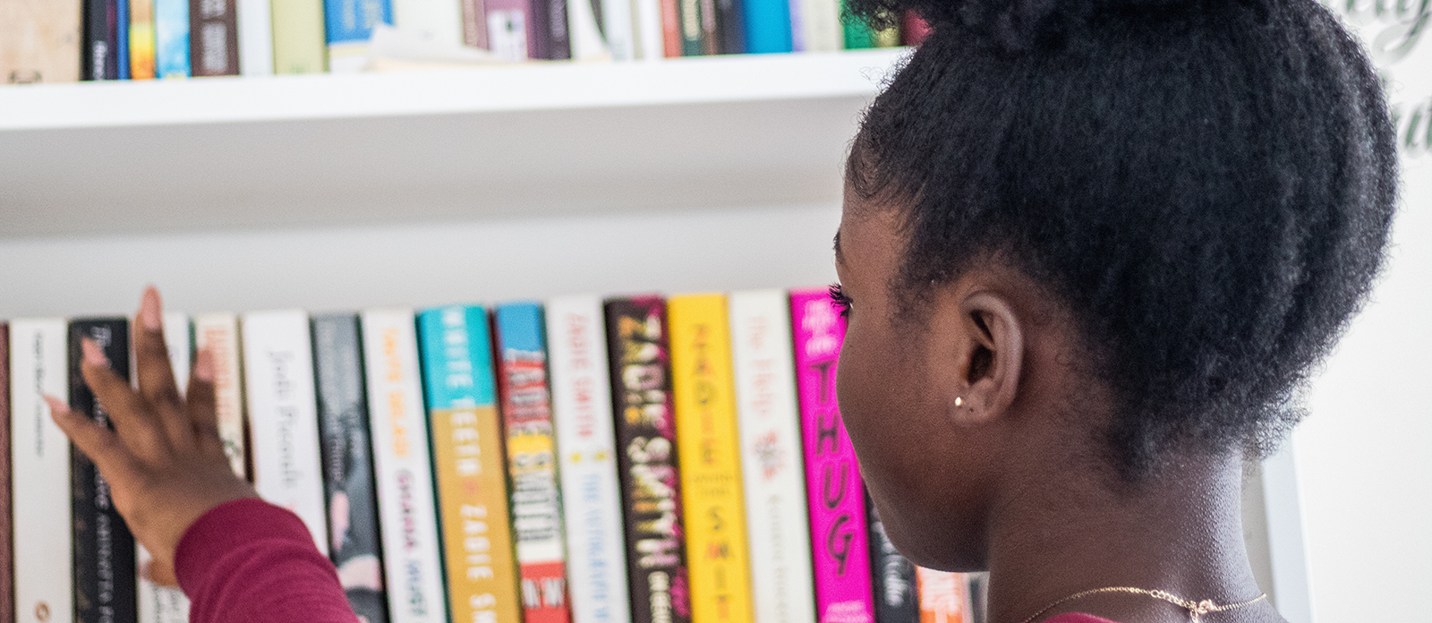
[[[692,623],[750,623],[750,561],[726,296],[667,301]]]

